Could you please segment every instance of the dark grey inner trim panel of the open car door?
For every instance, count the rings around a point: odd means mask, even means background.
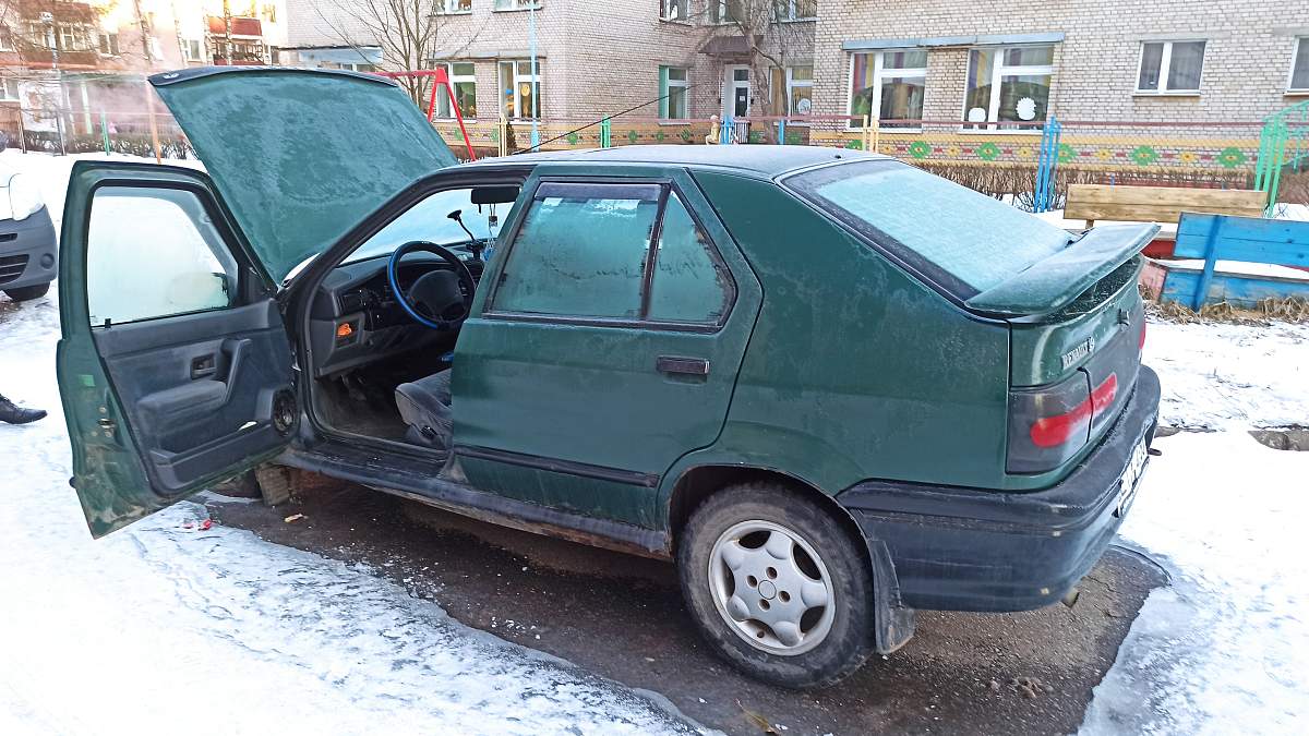
[[[291,348],[274,300],[92,334],[158,490],[281,444],[272,413]]]

